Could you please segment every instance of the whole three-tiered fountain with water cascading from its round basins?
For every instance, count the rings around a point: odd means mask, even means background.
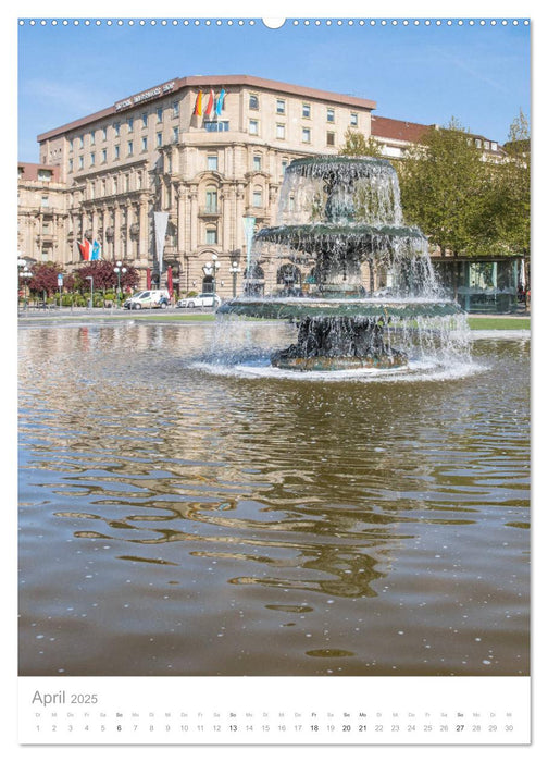
[[[386,160],[334,156],[292,161],[277,222],[254,236],[248,274],[269,265],[279,272],[285,265],[286,272],[292,267],[300,275],[298,288],[292,283],[289,290],[254,296],[248,283],[242,296],[219,309],[297,322],[296,343],[271,357],[276,367],[407,366],[406,337],[425,320],[447,321],[462,312],[441,295],[425,236],[403,225],[397,174]]]

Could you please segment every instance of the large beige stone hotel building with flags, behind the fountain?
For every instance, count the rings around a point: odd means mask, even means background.
[[[292,159],[338,153],[349,128],[398,159],[428,128],[374,116],[375,107],[248,75],[175,78],[127,96],[38,135],[39,162],[20,162],[20,257],[71,271],[82,262],[78,243],[97,241],[103,259],[133,265],[145,286],[147,271],[158,282],[154,212],[162,211],[161,285],[171,267],[180,294],[208,290],[204,266],[216,255],[215,286],[229,297],[233,262],[246,274],[244,220],[256,230],[275,224]],[[497,144],[475,139],[500,155]]]

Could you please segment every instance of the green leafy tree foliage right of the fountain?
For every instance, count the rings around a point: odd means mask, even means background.
[[[507,149],[505,160],[496,163],[453,119],[429,130],[399,162],[404,217],[443,254],[528,255],[530,172],[523,156],[528,127],[523,114],[511,134],[515,149]]]

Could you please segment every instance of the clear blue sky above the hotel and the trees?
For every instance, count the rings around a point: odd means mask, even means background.
[[[70,19],[68,16],[65,16]],[[25,19],[25,16],[23,16]],[[530,116],[530,27],[447,19],[406,26],[381,19],[353,25],[295,25],[270,29],[236,16],[210,25],[155,25],[150,16],[109,26],[88,16],[75,26],[18,28],[18,160],[38,161],[36,136],[125,96],[177,76],[251,74],[376,101],[376,114],[424,124],[454,116],[472,133],[505,142],[520,109]],[[96,19],[103,23],[97,25]],[[144,25],[139,24],[145,20]],[[197,16],[189,16],[195,20]],[[245,19],[238,25],[238,19]],[[398,16],[388,16],[389,20]]]

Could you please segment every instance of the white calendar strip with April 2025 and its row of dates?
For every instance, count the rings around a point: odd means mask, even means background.
[[[20,678],[27,743],[530,742],[528,678]]]

